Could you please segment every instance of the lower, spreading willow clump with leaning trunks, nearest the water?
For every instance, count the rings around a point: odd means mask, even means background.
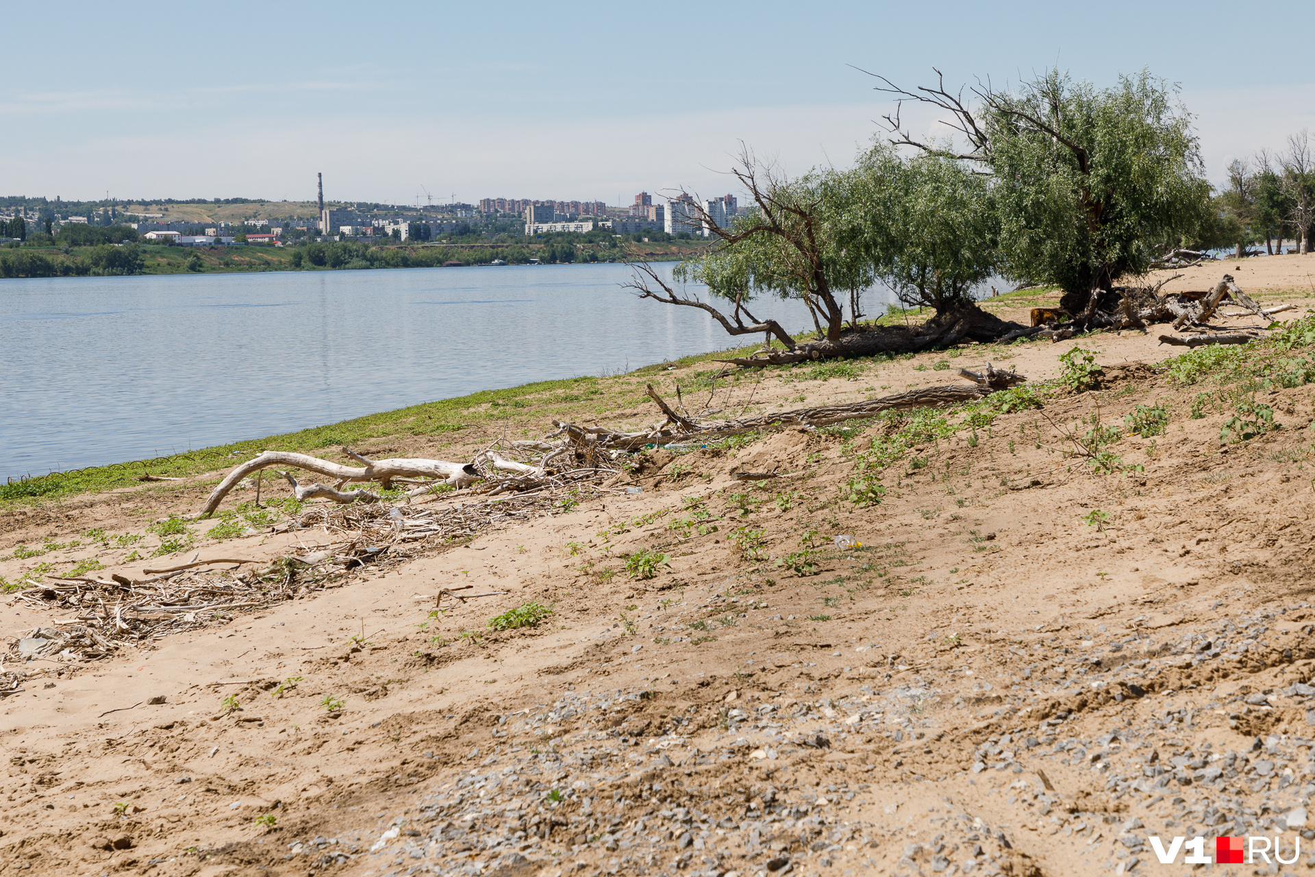
[[[732,335],[777,338],[789,352],[767,362],[902,352],[965,337],[989,341],[1016,329],[973,302],[972,288],[995,258],[995,226],[984,180],[961,164],[940,156],[902,159],[876,145],[847,170],[790,180],[746,155],[735,174],[753,208],[730,229],[700,217],[719,245],[675,272],[679,280],[706,284],[718,304],[679,295],[639,264],[629,285],[642,297],[701,308]],[[860,326],[859,292],[878,280],[905,304],[934,309],[932,320],[915,329]],[[802,301],[818,339],[801,342],[778,321],[753,313],[769,313],[763,308],[773,298]]]

